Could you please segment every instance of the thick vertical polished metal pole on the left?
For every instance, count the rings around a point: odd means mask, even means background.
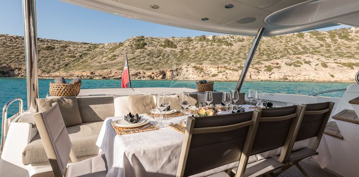
[[[36,2],[22,0],[28,111],[36,111],[38,98]]]

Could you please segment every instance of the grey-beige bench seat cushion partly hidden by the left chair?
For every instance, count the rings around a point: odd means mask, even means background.
[[[99,147],[96,146],[96,141],[102,124],[103,121],[67,127],[72,149],[77,158],[92,157],[99,153]],[[24,165],[48,163],[48,158],[39,134],[25,147],[22,161]]]

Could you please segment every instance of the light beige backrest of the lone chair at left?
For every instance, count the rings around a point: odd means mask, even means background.
[[[38,133],[56,177],[63,177],[72,152],[72,144],[59,105],[34,115]]]

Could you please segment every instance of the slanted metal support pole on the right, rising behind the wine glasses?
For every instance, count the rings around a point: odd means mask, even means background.
[[[254,57],[255,50],[258,47],[258,44],[259,44],[260,39],[262,38],[263,32],[264,32],[264,28],[258,29],[258,32],[255,35],[255,38],[254,38],[252,46],[251,46],[250,53],[247,56],[246,62],[244,63],[244,66],[243,66],[241,76],[240,76],[240,78],[238,80],[238,83],[237,83],[236,90],[238,90],[238,92],[241,91],[242,85],[244,83],[244,79],[246,78],[247,71],[251,66],[251,62],[252,62],[252,59]]]

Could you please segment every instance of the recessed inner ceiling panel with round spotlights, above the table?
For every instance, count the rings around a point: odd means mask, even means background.
[[[235,0],[119,0],[118,2],[157,13],[158,16],[168,15],[214,25],[226,24],[260,10]],[[158,5],[159,8],[151,8],[153,4]],[[236,8],[226,9],[224,8],[226,4],[233,4]],[[201,19],[205,17],[210,20],[202,21]]]

